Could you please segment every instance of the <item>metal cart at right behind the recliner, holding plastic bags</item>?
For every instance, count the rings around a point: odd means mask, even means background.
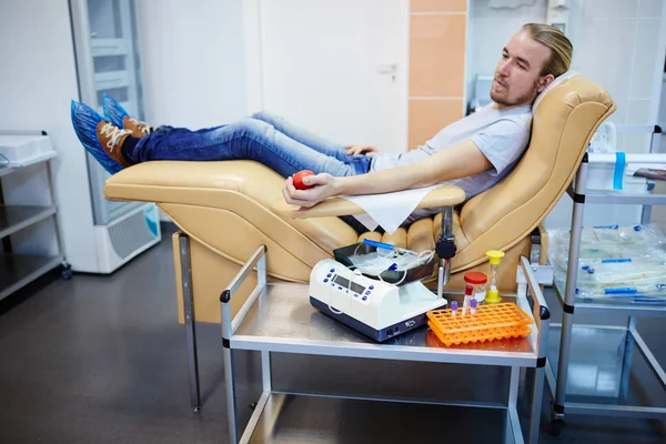
[[[658,127],[633,127],[632,132],[646,131],[652,132],[652,149],[658,151],[662,130]],[[594,154],[593,154],[594,155]],[[604,158],[614,154],[604,154]],[[640,163],[648,163],[649,155],[638,155]],[[660,155],[664,158],[664,154]],[[654,161],[653,161],[654,162]],[[662,163],[664,163],[662,161]],[[666,204],[666,195],[658,194],[654,182],[647,182],[645,192],[626,191],[591,191],[586,190],[588,178],[589,155],[585,154],[581,167],[576,173],[574,185],[567,191],[574,201],[574,210],[571,225],[571,240],[568,248],[568,264],[578,264],[579,248],[583,231],[583,213],[585,204],[640,204],[643,206],[642,222],[647,223],[650,219],[652,205]],[[624,174],[624,172],[623,172]],[[554,344],[553,349],[558,349],[558,355],[548,356],[546,365],[546,379],[548,390],[553,395],[551,412],[551,433],[558,435],[564,426],[564,415],[567,414],[591,414],[609,416],[633,416],[644,418],[666,418],[666,407],[628,405],[627,398],[630,364],[634,347],[643,354],[655,377],[666,389],[666,373],[656,361],[655,356],[646,345],[638,333],[637,317],[653,316],[666,317],[666,299],[663,302],[640,303],[626,300],[613,301],[610,299],[589,301],[576,299],[576,282],[578,278],[578,266],[567,266],[566,281],[555,281],[555,292],[562,303],[563,321],[561,326],[559,344]],[[628,316],[625,326],[610,325],[576,325],[574,326],[574,312],[576,314],[599,313],[601,311],[610,311],[615,314]],[[559,325],[553,325],[554,329]],[[585,344],[587,341],[587,344]],[[585,345],[585,351],[574,351],[577,354],[576,360],[584,359],[586,363],[581,364],[572,360],[574,343]],[[557,346],[558,345],[558,346]],[[605,349],[605,350],[604,350]],[[596,362],[594,362],[596,360]],[[601,363],[599,360],[605,360]],[[594,363],[593,363],[594,362]],[[599,371],[594,375],[584,375],[589,370],[589,364]],[[587,365],[587,370],[584,366]],[[575,384],[568,384],[568,376],[573,367],[579,367],[576,372],[577,381]],[[605,369],[602,369],[605,366]],[[554,373],[554,369],[557,373]],[[593,377],[594,376],[594,377]],[[596,379],[595,379],[596,377]],[[585,383],[583,380],[587,380]],[[603,381],[599,381],[603,379]],[[587,385],[591,383],[591,385]],[[575,393],[571,393],[575,386]],[[566,402],[567,392],[569,401]]]

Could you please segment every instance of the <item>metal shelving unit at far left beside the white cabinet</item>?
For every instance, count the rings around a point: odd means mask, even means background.
[[[1,135],[26,137],[26,138],[46,138],[43,132],[0,132]],[[51,160],[56,157],[56,151],[46,152],[33,162],[26,162],[19,167],[0,167],[0,179],[7,178],[12,173],[22,171],[29,167],[39,163],[46,163],[46,170],[49,183],[49,193],[51,203],[48,205],[26,205],[26,204],[0,204],[0,239],[10,239],[11,235],[20,234],[21,231],[30,229],[49,219],[54,221],[54,236],[58,245],[56,254],[21,254],[14,252],[4,252],[0,254],[0,300],[9,296],[30,282],[34,281],[44,273],[62,265],[62,276],[71,278],[71,268],[64,261],[62,254],[62,244],[58,223],[58,206],[53,192],[53,181],[51,174]],[[23,202],[24,200],[21,200]],[[4,241],[6,242],[6,241]]]

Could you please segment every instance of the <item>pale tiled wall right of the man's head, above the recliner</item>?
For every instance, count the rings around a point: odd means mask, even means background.
[[[568,37],[572,68],[608,90],[616,124],[654,125],[658,119],[664,67],[662,0],[572,0]],[[646,152],[648,134],[618,134],[617,150]],[[564,196],[546,219],[546,228],[571,223],[571,199]],[[638,205],[586,205],[585,225],[638,223]]]

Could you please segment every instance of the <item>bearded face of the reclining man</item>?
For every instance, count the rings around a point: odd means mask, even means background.
[[[526,31],[515,34],[502,51],[491,99],[502,107],[532,103],[553,81],[551,74],[541,75],[549,57],[551,50],[533,40]]]

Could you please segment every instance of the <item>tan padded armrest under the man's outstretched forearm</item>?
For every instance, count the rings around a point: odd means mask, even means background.
[[[383,194],[377,194],[381,199]],[[465,201],[465,192],[454,185],[442,185],[431,190],[416,205],[417,209],[457,205]],[[351,214],[363,214],[365,211],[354,202],[343,198],[329,198],[316,205],[306,209],[290,205],[284,199],[273,204],[273,211],[285,218],[307,219],[329,218]]]

